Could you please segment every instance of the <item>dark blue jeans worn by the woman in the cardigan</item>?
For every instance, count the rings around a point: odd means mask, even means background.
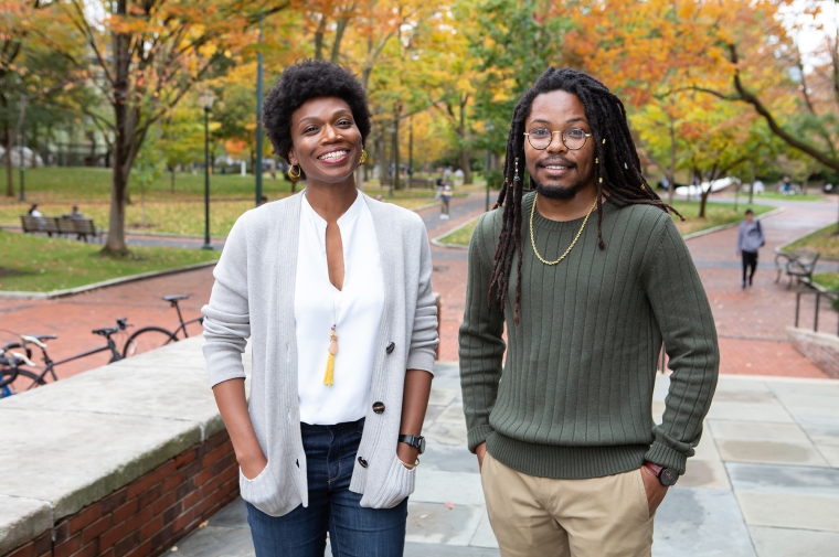
[[[300,424],[309,506],[274,517],[247,503],[256,557],[323,557],[327,532],[333,557],[401,557],[407,499],[393,508],[365,508],[350,491],[364,419],[336,426]]]

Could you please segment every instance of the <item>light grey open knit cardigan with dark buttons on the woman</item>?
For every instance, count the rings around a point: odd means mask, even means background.
[[[363,194],[362,194],[363,195]],[[249,415],[268,465],[253,480],[240,471],[242,497],[272,516],[308,506],[300,438],[295,340],[295,274],[302,192],[242,215],[213,272],[204,320],[210,383],[244,377],[242,354],[252,340]],[[390,508],[414,491],[413,470],[396,458],[406,369],[434,369],[437,309],[432,293],[428,236],[415,213],[364,195],[373,216],[384,274],[364,433],[350,490],[361,506]],[[384,403],[382,414],[373,403]]]

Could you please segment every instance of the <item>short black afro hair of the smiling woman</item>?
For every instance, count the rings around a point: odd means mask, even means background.
[[[274,152],[288,160],[291,150],[291,115],[316,97],[338,97],[350,105],[362,142],[370,135],[370,109],[364,88],[348,69],[326,60],[305,60],[288,66],[268,92],[263,124]]]

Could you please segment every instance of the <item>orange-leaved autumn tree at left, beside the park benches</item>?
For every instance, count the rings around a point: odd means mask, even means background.
[[[39,39],[75,67],[88,68],[93,57],[96,85],[111,107],[102,118],[114,143],[110,219],[105,253],[125,255],[125,204],[134,161],[150,126],[171,110],[195,84],[212,74],[226,53],[255,42],[259,14],[288,7],[284,1],[106,0],[97,20],[83,0],[52,2],[40,10],[47,23]],[[53,40],[59,28],[72,29],[87,54],[74,55]]]

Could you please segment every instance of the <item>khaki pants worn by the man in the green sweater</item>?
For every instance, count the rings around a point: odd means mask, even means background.
[[[480,474],[502,557],[649,557],[652,517],[640,470],[553,480],[512,470],[489,452]]]

